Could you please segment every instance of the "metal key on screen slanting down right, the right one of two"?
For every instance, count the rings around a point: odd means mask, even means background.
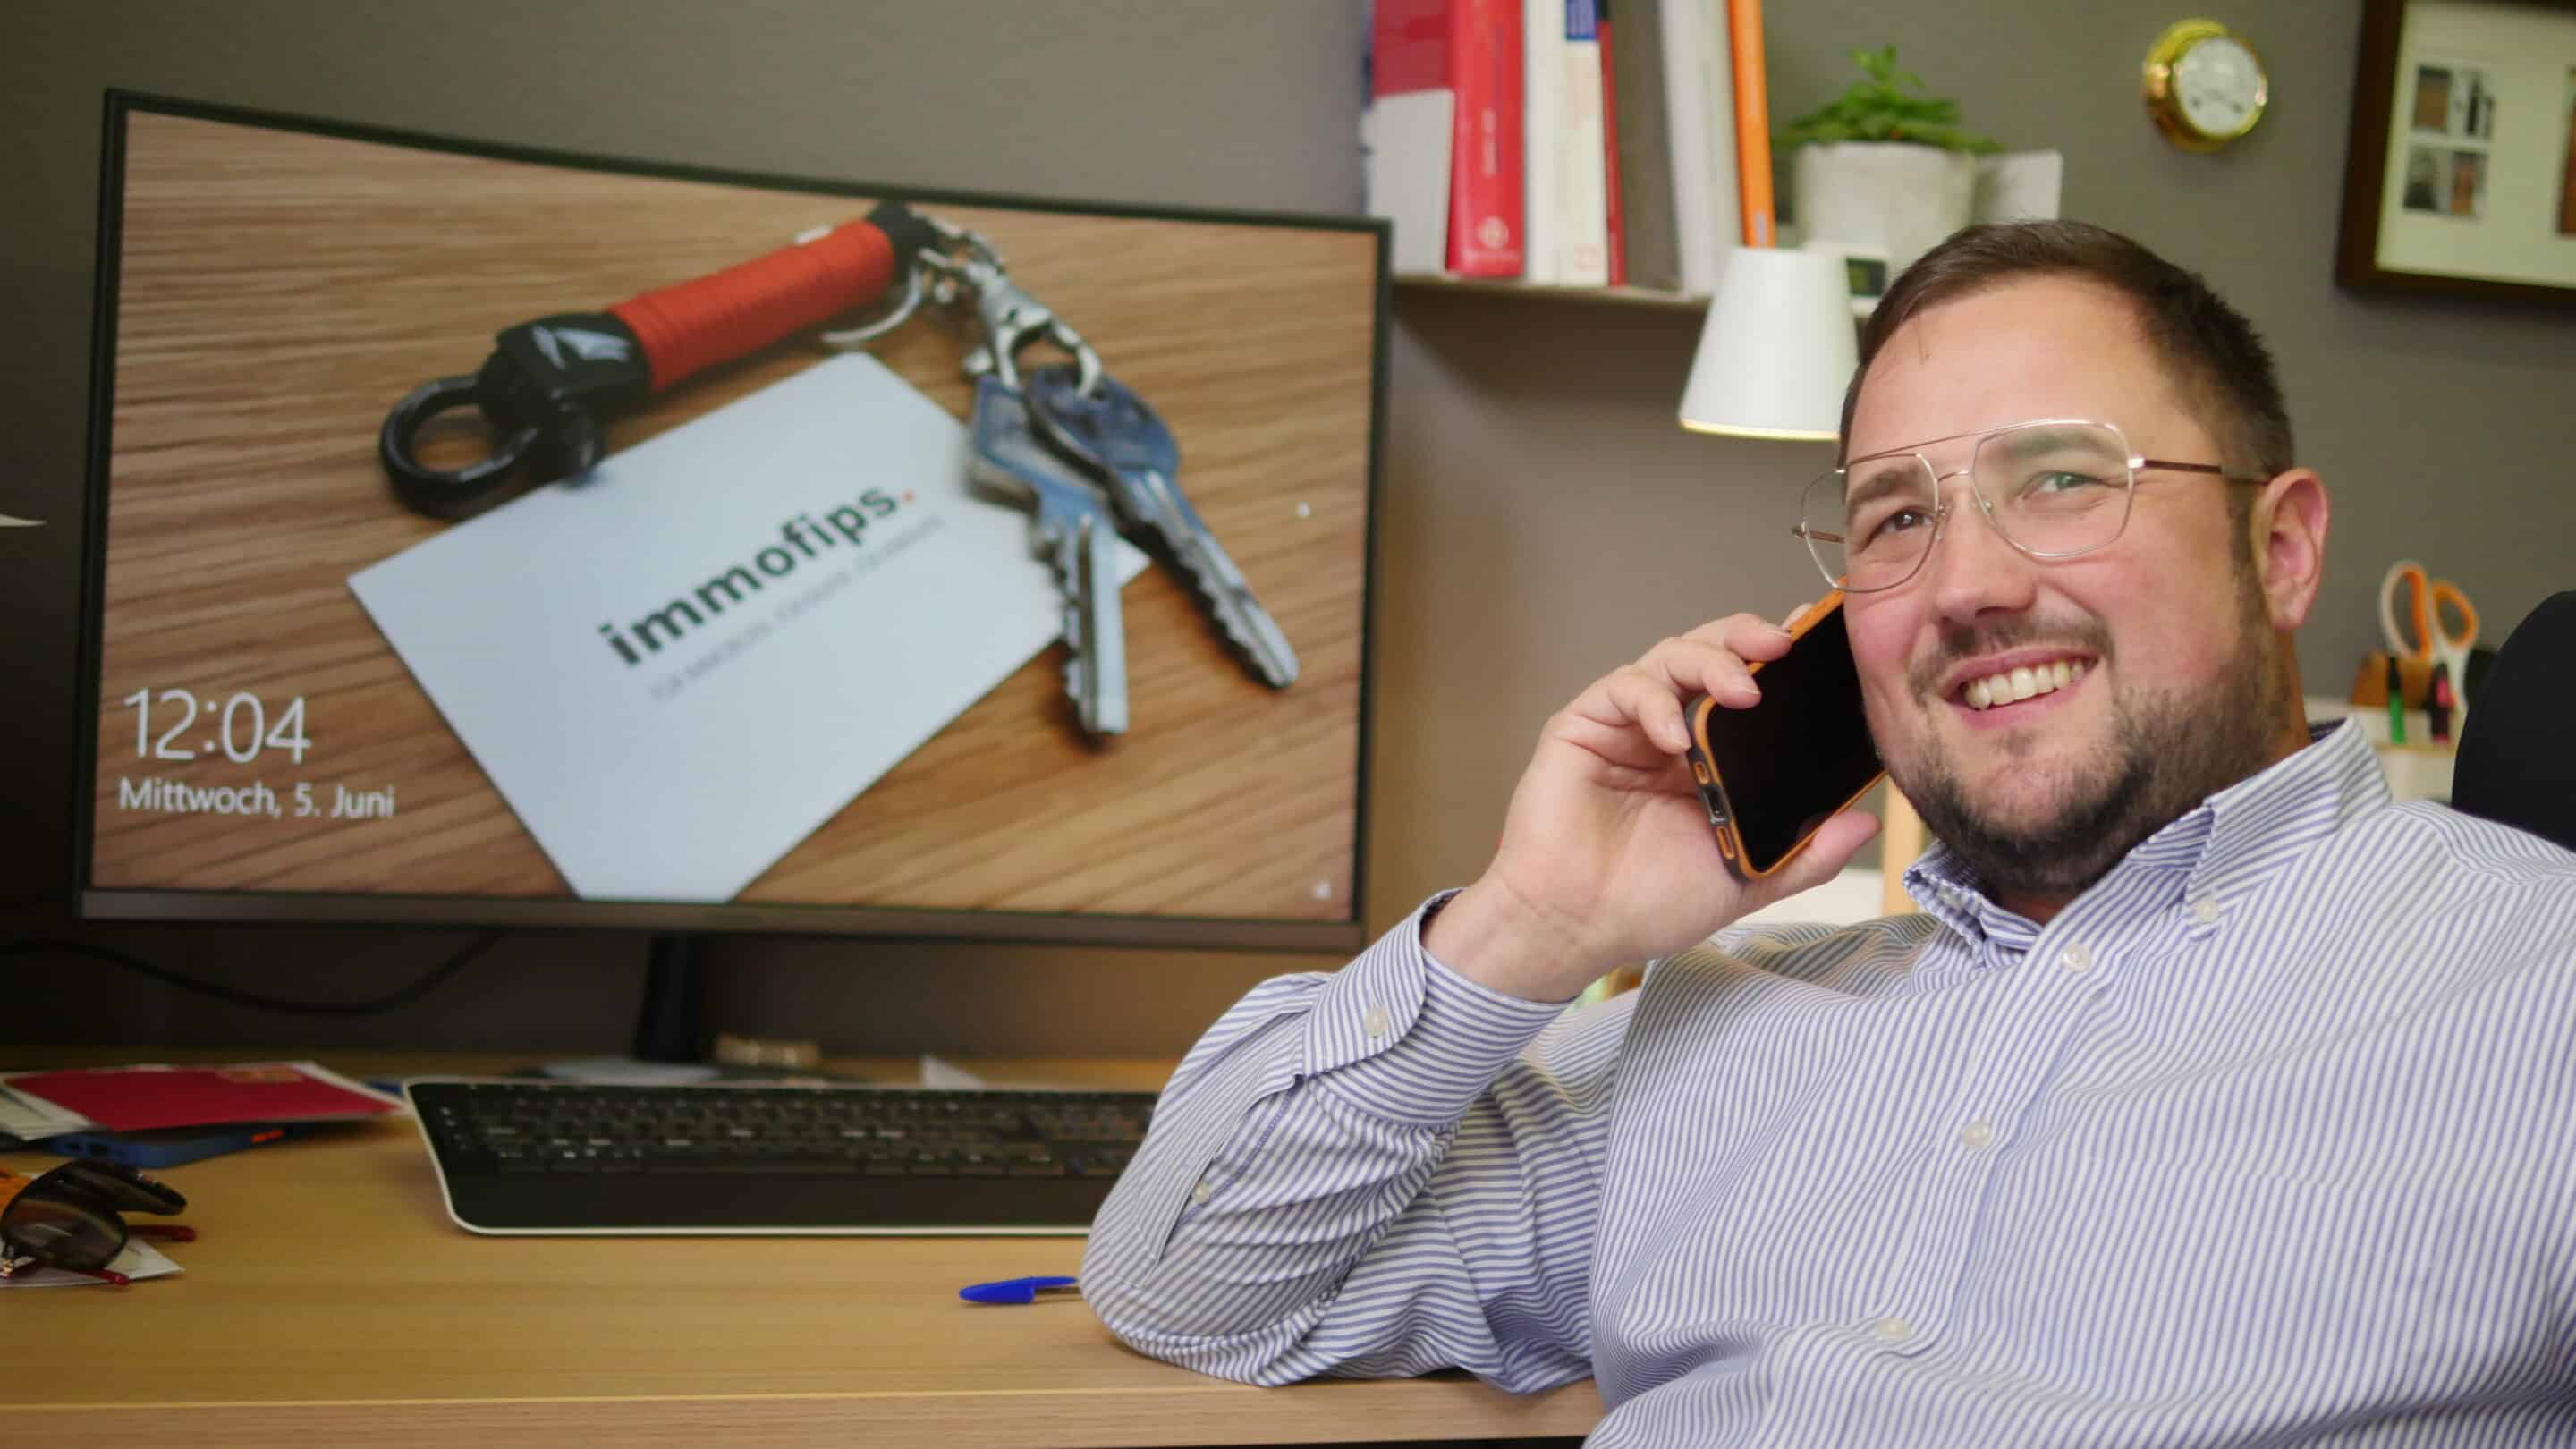
[[[1288,634],[1252,598],[1244,570],[1180,492],[1180,443],[1162,415],[1108,374],[1084,392],[1082,374],[1069,364],[1030,369],[1020,374],[1020,387],[1046,441],[1108,487],[1126,523],[1162,539],[1164,554],[1198,585],[1208,619],[1226,632],[1252,676],[1270,688],[1296,683]]]

